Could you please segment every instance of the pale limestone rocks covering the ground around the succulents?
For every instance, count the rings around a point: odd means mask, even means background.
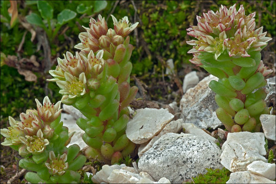
[[[183,91],[187,91],[179,107],[174,102],[164,108],[135,109],[126,135],[139,146],[132,155],[134,159],[139,157],[138,164],[105,165],[93,173],[94,182],[181,183],[206,173],[205,168],[223,167],[232,172],[229,183],[275,182],[275,164],[267,163],[268,151],[275,153],[275,111],[261,116],[264,132],[229,133],[216,117],[214,93],[208,87],[217,78],[210,75],[198,82],[195,72],[189,75],[183,83]],[[275,99],[275,77],[268,81],[266,102],[274,105],[271,99]],[[63,109],[70,113],[62,114],[65,126],[76,131],[71,144],[85,149],[80,138],[83,130],[75,124],[81,114],[70,106],[63,105]]]

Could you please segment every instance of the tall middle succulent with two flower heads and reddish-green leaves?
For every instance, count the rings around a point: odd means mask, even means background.
[[[138,22],[132,25],[127,17],[112,19],[114,29],[108,29],[101,15],[98,20],[91,18],[89,28],[83,27],[86,32],[79,34],[81,43],[75,46],[80,52],[66,52],[63,59],[58,58],[56,70],[49,73],[54,77],[50,81],[60,87],[62,103],[73,105],[86,117],[77,120],[89,146],[86,156],[114,164],[135,149],[125,129],[128,105],[138,90],[129,85],[133,46],[128,34]]]

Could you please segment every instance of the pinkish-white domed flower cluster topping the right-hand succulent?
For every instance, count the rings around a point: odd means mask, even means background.
[[[243,5],[236,10],[236,5],[229,9],[220,7],[216,13],[212,10],[197,16],[197,26],[187,29],[188,35],[197,40],[187,41],[194,45],[188,53],[193,53],[192,63],[201,65],[198,54],[209,52],[217,59],[224,51],[229,57],[249,57],[248,51],[261,51],[271,38],[265,37],[263,27],[255,29],[255,12],[245,15]]]

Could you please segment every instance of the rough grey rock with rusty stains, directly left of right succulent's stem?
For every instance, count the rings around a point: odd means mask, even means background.
[[[180,118],[186,123],[193,123],[204,129],[215,129],[222,125],[216,116],[218,105],[215,102],[215,93],[208,86],[211,80],[218,81],[218,78],[209,75],[182,96],[179,106],[182,113]]]

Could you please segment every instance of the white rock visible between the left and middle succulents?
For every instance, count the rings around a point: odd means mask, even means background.
[[[75,132],[70,143],[66,147],[77,144],[81,150],[85,148],[87,144],[82,140],[84,131],[76,124],[76,119],[71,114],[61,113],[60,121],[63,122],[63,126],[68,128],[68,133]]]

